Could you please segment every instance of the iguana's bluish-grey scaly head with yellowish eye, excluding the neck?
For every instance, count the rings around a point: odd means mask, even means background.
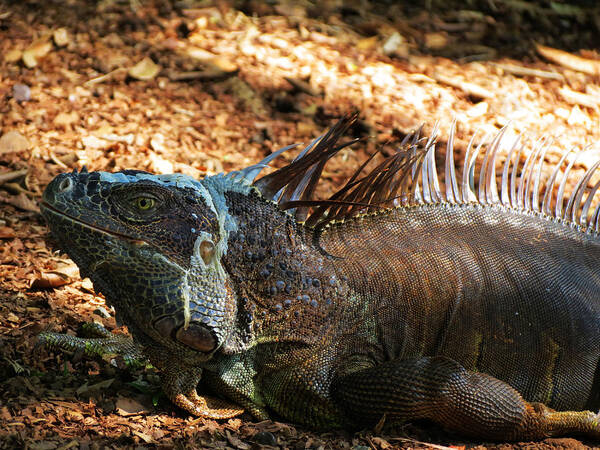
[[[221,207],[210,188],[185,175],[82,171],[48,185],[42,213],[128,325],[168,347],[210,355],[236,316],[221,265],[235,224]]]

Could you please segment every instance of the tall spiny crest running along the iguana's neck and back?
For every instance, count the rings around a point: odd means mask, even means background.
[[[600,166],[600,159],[579,179],[571,180],[572,169],[586,150],[571,149],[550,171],[544,170],[545,155],[552,140],[542,137],[527,148],[521,135],[507,142],[506,127],[495,136],[488,134],[478,141],[475,133],[457,167],[454,123],[446,144],[443,172],[436,167],[435,158],[438,126],[436,124],[429,138],[421,137],[421,127],[405,137],[392,155],[366,174],[363,174],[364,169],[375,155],[331,197],[313,199],[325,163],[339,150],[356,142],[355,139],[337,143],[356,119],[356,113],[342,118],[327,134],[311,142],[294,161],[255,181],[254,186],[282,209],[292,210],[296,220],[318,229],[336,220],[397,206],[476,203],[539,213],[582,231],[600,233],[600,202],[594,201],[600,181],[588,186]],[[506,152],[506,158],[498,164],[502,152]],[[265,165],[262,161],[245,170]],[[550,175],[544,176],[545,173]],[[252,180],[257,174],[253,173]],[[574,181],[575,187],[567,195],[567,186],[573,184],[569,181]]]

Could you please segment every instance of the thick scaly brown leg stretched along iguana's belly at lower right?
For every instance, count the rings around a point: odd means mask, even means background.
[[[508,384],[444,357],[390,361],[335,380],[332,395],[357,421],[429,419],[478,438],[600,437],[591,411],[554,411],[527,403]]]

